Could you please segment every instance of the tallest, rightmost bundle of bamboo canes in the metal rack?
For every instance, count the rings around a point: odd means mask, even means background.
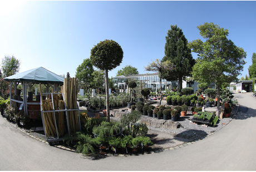
[[[77,80],[76,78],[64,78],[61,92],[64,94],[67,109],[77,109]],[[70,134],[80,131],[77,110],[67,112]]]

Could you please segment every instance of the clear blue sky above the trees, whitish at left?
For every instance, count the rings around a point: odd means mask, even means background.
[[[255,7],[256,1],[0,1],[0,58],[14,55],[19,72],[43,67],[75,77],[91,48],[112,39],[124,58],[109,77],[125,65],[145,74],[151,60],[164,57],[171,25],[177,24],[191,42],[203,40],[197,26],[213,22],[228,29],[228,38],[247,52],[240,78],[249,76],[256,52]]]

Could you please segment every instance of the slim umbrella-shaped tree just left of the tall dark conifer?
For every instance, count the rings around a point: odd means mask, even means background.
[[[161,105],[161,100],[162,100],[162,94],[161,94],[161,90],[162,90],[162,83],[161,83],[161,73],[169,71],[171,72],[173,70],[173,63],[171,63],[170,60],[166,60],[165,62],[161,62],[161,60],[156,59],[155,61],[153,61],[152,63],[150,63],[149,65],[147,65],[147,67],[145,67],[145,70],[147,71],[155,71],[155,72],[159,72],[159,82],[160,82],[160,105]]]

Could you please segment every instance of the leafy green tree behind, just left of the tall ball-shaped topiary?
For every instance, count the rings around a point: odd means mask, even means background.
[[[92,82],[92,73],[94,72],[92,62],[89,58],[83,59],[83,62],[76,68],[76,78],[78,82],[84,82],[87,90],[88,83]]]

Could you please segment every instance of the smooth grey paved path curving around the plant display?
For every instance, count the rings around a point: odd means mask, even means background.
[[[49,146],[0,116],[1,170],[256,170],[256,99],[235,93],[239,112],[215,134],[179,149],[91,160]]]

